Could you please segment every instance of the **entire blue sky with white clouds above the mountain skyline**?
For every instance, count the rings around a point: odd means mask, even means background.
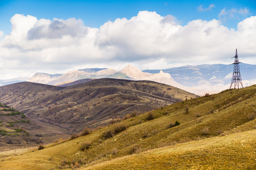
[[[256,64],[255,1],[0,1],[0,79]]]

